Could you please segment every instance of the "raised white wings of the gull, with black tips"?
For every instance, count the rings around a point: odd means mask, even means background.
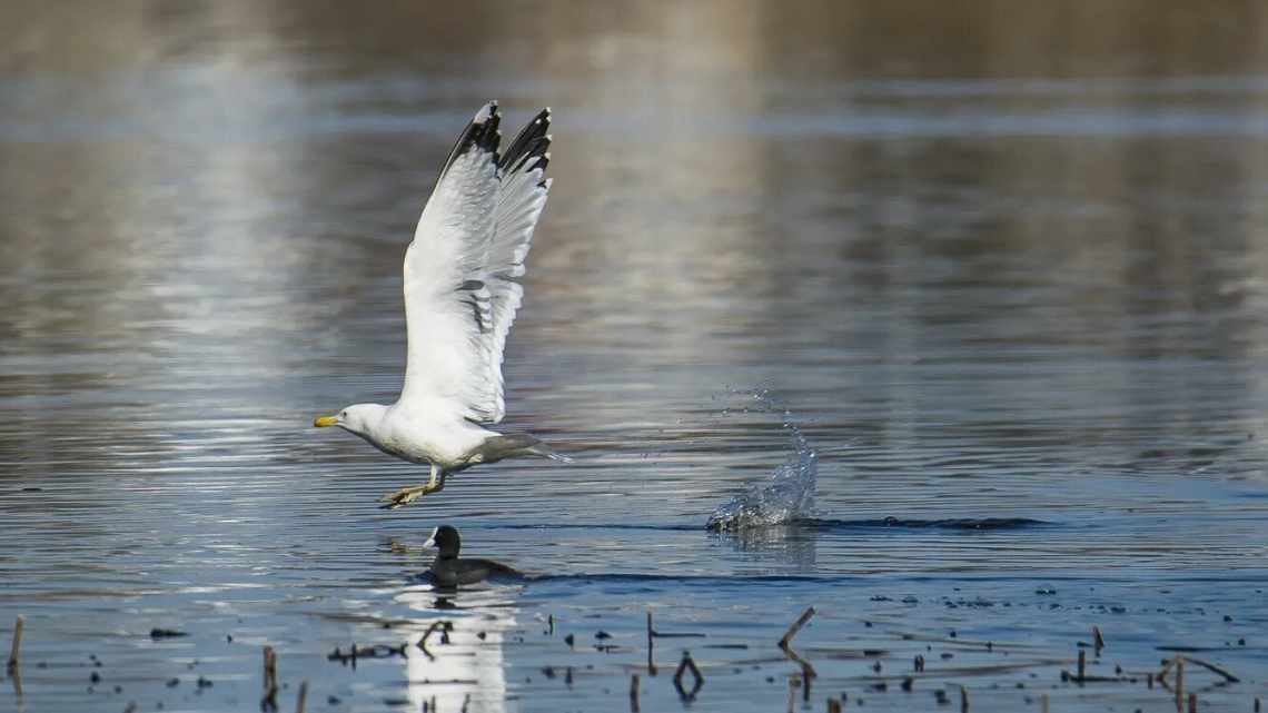
[[[404,255],[410,354],[401,402],[498,422],[502,346],[524,288],[533,228],[550,180],[550,110],[498,155],[501,117],[486,104],[458,138]]]

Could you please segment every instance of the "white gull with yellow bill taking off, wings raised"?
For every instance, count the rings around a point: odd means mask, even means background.
[[[407,359],[396,403],[355,403],[317,428],[339,426],[379,450],[431,466],[426,485],[379,499],[401,507],[445,487],[445,476],[506,458],[571,462],[529,434],[501,434],[502,346],[524,297],[516,278],[550,190],[550,109],[500,154],[489,101],[449,154],[404,254]]]

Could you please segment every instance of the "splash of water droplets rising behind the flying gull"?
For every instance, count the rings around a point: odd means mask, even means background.
[[[746,395],[751,406],[746,412],[782,414],[784,431],[789,435],[792,452],[775,468],[770,480],[754,483],[747,491],[719,505],[709,516],[710,530],[746,530],[782,525],[810,518],[814,511],[814,486],[819,473],[819,455],[806,443],[801,429],[787,409],[775,403],[766,389]]]

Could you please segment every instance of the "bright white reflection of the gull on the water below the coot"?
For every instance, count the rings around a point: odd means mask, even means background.
[[[411,646],[404,647],[411,710],[506,710],[502,642],[516,627],[517,592],[519,587],[456,592],[417,585],[397,595],[397,601],[422,613],[408,629]]]

